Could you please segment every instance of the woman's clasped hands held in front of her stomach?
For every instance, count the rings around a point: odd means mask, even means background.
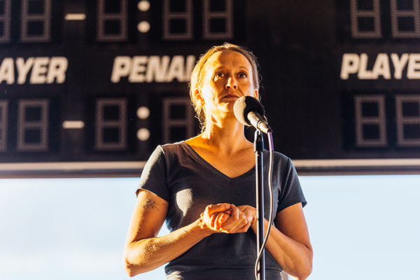
[[[211,204],[200,216],[202,223],[214,232],[246,232],[256,221],[256,210],[249,205]]]

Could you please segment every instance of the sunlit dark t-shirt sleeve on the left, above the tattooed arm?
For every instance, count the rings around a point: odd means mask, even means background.
[[[146,162],[143,172],[141,172],[139,187],[136,190],[136,195],[139,190],[148,190],[163,200],[169,202],[169,191],[167,188],[167,167],[165,160],[165,153],[161,146],[155,148],[151,157]]]

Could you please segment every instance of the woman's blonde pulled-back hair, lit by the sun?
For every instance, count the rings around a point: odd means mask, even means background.
[[[211,55],[214,55],[216,52],[221,52],[222,50],[235,50],[241,55],[244,55],[246,59],[251,63],[252,66],[252,80],[253,80],[253,86],[256,90],[260,89],[260,75],[258,73],[259,64],[257,61],[257,57],[251,52],[251,50],[248,50],[247,48],[241,47],[239,45],[234,45],[231,43],[224,43],[223,45],[215,45],[214,47],[207,50],[204,55],[200,56],[200,59],[195,64],[193,71],[191,71],[191,79],[190,79],[190,98],[191,103],[193,104],[195,116],[200,120],[200,126],[202,129],[202,132],[206,128],[206,111],[204,109],[204,106],[201,106],[198,104],[197,99],[195,98],[194,91],[196,88],[200,88],[203,85],[203,78],[204,78],[204,65],[206,64],[207,60],[209,60],[209,57]],[[260,96],[258,95],[258,98]]]

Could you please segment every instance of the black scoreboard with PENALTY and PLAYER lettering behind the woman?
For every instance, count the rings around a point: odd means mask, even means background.
[[[419,0],[0,0],[0,175],[139,175],[225,41],[298,171],[420,171]]]

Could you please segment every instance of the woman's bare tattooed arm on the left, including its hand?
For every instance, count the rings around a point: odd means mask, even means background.
[[[202,216],[190,225],[157,237],[167,210],[167,201],[151,192],[140,191],[123,251],[123,266],[129,276],[165,265],[214,232],[246,232],[250,225],[237,207],[216,204],[206,207]],[[228,214],[214,215],[223,212]],[[226,225],[221,227],[221,223]]]

